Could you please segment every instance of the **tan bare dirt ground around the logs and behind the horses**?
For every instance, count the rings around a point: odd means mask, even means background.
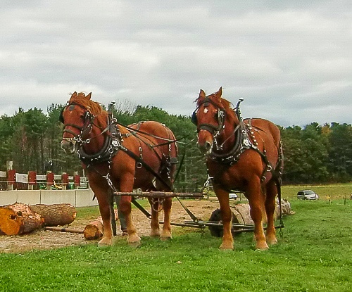
[[[219,208],[218,201],[199,200],[182,201],[182,203],[201,220],[208,220],[211,212]],[[149,236],[150,220],[140,210],[135,208],[132,210],[132,216],[139,236]],[[91,220],[92,218],[75,220],[75,222],[67,227],[83,230]],[[161,212],[159,220],[163,220],[163,212]],[[191,220],[191,218],[178,201],[173,201],[171,222],[183,223],[185,220]],[[120,226],[117,229],[118,236],[121,237]],[[182,232],[194,231],[194,228],[172,227],[172,231],[177,236],[177,234],[181,234]],[[22,236],[0,236],[0,253],[23,253],[29,250],[81,246],[84,244],[97,244],[97,242],[86,241],[83,234],[40,229]]]

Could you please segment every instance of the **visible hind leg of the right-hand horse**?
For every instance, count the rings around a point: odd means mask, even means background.
[[[269,244],[277,243],[275,231],[275,197],[277,195],[277,186],[273,180],[266,185],[265,212],[268,218],[266,230],[266,240]]]

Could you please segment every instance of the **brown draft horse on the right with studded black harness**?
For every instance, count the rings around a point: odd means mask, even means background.
[[[243,191],[249,200],[256,248],[277,243],[274,225],[275,197],[280,194],[283,155],[279,128],[268,120],[241,119],[222,99],[222,88],[196,99],[192,122],[197,126],[198,147],[207,155],[208,175],[220,203],[224,227],[221,249],[233,249],[229,193]],[[267,215],[266,238],[263,230]]]

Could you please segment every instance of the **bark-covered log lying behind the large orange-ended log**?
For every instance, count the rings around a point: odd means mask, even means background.
[[[70,204],[30,205],[33,212],[42,216],[42,226],[63,226],[72,223],[77,215],[76,209]]]

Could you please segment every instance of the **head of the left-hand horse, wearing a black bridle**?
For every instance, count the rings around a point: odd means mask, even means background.
[[[92,132],[94,113],[90,101],[92,93],[85,96],[75,91],[68,105],[61,110],[60,122],[63,123],[63,139],[61,148],[68,154],[76,153],[82,143],[89,143],[89,134]]]

